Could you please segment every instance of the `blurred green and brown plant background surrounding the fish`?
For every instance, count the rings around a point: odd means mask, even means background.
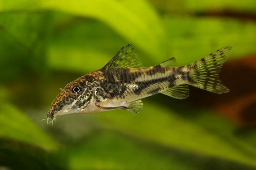
[[[132,43],[144,66],[233,46],[220,79],[143,99],[139,114],[47,111]],[[0,0],[0,169],[256,169],[255,0]]]

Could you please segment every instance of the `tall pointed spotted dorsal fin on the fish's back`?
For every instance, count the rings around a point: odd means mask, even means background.
[[[132,50],[132,44],[128,44],[126,47],[122,47],[102,69],[111,70],[117,68],[143,67],[140,59],[136,54],[129,54]]]

